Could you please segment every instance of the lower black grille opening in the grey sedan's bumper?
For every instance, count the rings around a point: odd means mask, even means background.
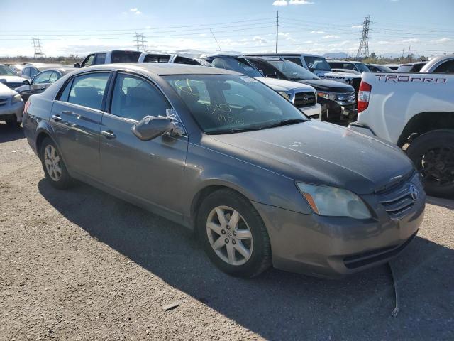
[[[343,259],[343,264],[348,269],[356,269],[360,268],[361,266],[366,266],[369,264],[377,263],[378,261],[384,261],[386,259],[390,259],[391,257],[396,256],[399,254],[400,251],[405,249],[405,247],[410,244],[410,242],[416,236],[412,234],[409,239],[400,245],[395,245],[394,247],[383,247],[381,249],[376,249],[373,251],[362,252],[361,254],[355,254],[353,256],[347,256]]]

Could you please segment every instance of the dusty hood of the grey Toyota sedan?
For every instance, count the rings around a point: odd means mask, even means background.
[[[350,129],[306,121],[260,131],[209,135],[207,147],[295,181],[370,194],[414,166],[396,146]]]

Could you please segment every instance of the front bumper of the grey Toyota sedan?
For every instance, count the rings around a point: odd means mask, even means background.
[[[253,205],[267,227],[275,268],[339,278],[384,264],[405,249],[423,220],[425,194],[421,183],[417,187],[419,200],[399,219],[387,212],[380,195],[362,196],[375,212],[369,220],[304,215],[257,202]]]

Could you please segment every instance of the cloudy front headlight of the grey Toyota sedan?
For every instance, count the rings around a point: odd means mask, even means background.
[[[317,215],[355,219],[372,217],[360,197],[349,190],[307,183],[297,183],[297,186]]]

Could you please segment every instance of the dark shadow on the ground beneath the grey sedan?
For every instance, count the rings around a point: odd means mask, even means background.
[[[186,228],[88,185],[67,192],[40,180],[50,205],[170,286],[272,340],[450,338],[454,251],[416,237],[387,266],[329,281],[276,269],[250,280],[218,271]],[[184,304],[184,303],[182,303]]]

